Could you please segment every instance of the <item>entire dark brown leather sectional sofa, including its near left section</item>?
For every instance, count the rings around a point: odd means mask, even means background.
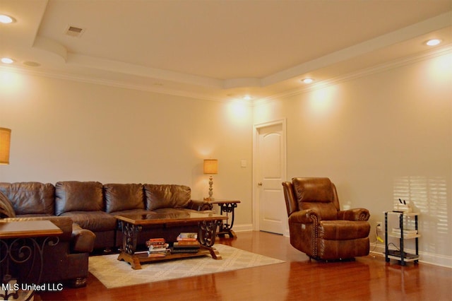
[[[11,202],[14,220],[46,218],[56,225],[64,225],[67,240],[61,240],[57,250],[61,259],[57,264],[46,259],[53,271],[61,268],[61,273],[54,274],[57,276],[46,274],[47,278],[42,281],[72,279],[82,285],[83,278],[88,276],[88,254],[93,249],[115,249],[122,245],[122,232],[115,214],[212,209],[211,203],[191,200],[190,187],[175,184],[3,182],[0,183],[0,192]],[[5,211],[2,213],[1,210],[0,214],[5,217]],[[180,232],[197,232],[197,229],[197,223],[143,228],[138,235],[138,244],[144,244],[149,237],[175,241]],[[71,256],[77,259],[69,260]]]

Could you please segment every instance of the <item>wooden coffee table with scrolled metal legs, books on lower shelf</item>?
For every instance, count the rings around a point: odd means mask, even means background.
[[[185,211],[167,214],[150,211],[148,214],[121,214],[114,217],[119,220],[119,225],[124,234],[122,250],[118,256],[118,260],[129,262],[133,269],[141,269],[141,264],[144,262],[204,256],[208,254],[213,259],[222,259],[218,250],[213,247],[213,244],[215,243],[218,225],[222,223],[222,220],[227,220],[227,216],[202,211]],[[141,231],[143,226],[172,223],[198,223],[198,241],[201,244],[201,248],[197,253],[167,254],[163,257],[149,257],[148,254],[135,254],[138,232]]]

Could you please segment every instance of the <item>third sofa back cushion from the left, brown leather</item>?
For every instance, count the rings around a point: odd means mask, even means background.
[[[143,184],[104,184],[105,211],[144,209]]]

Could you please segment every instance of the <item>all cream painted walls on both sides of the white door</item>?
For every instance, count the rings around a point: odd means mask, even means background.
[[[252,124],[286,118],[287,179],[330,177],[344,208],[369,208],[372,240],[374,223],[395,199],[414,201],[422,259],[452,266],[451,78],[449,53],[251,112],[0,69],[0,126],[13,130],[0,181],[186,184],[201,199],[208,191],[202,160],[218,158],[214,196],[240,199],[235,222],[246,228]]]

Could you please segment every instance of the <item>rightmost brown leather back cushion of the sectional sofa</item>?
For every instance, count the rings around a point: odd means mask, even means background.
[[[186,208],[191,199],[191,189],[184,185],[144,184],[146,209]]]

